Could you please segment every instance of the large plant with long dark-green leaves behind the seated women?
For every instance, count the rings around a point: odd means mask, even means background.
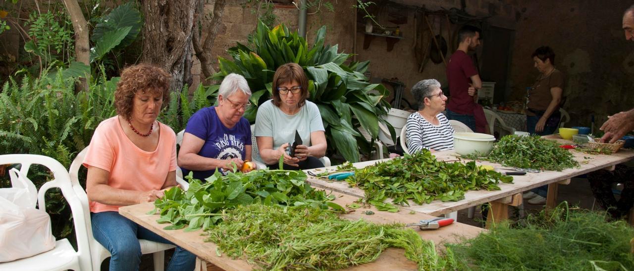
[[[369,152],[372,143],[361,136],[359,127],[370,132],[370,141],[378,136],[378,122],[391,128],[380,118],[390,108],[382,99],[387,89],[381,84],[370,84],[363,75],[369,61],[346,65],[351,54],[337,52],[337,44],[325,45],[325,35],[324,26],[309,47],[303,37],[290,32],[285,25],[271,30],[259,22],[253,35],[254,49],[240,43],[228,49],[233,60],[219,57],[220,72],[214,79],[222,80],[229,73],[238,73],[247,79],[253,92],[250,101],[256,106],[249,108],[245,117],[254,122],[257,106],[271,99],[271,83],[278,66],[299,64],[309,79],[309,100],[320,109],[329,151],[340,153],[348,161],[358,161],[359,146],[361,151]]]

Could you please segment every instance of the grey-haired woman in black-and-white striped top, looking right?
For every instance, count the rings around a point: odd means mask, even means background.
[[[445,151],[453,149],[453,128],[441,111],[447,96],[436,79],[422,80],[411,88],[418,111],[407,118],[405,125],[407,148],[410,153],[421,149]]]

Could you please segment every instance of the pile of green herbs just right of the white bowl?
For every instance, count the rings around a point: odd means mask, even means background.
[[[502,137],[493,145],[491,152],[463,155],[472,160],[488,160],[505,167],[536,168],[539,170],[557,170],[579,167],[573,154],[560,148],[559,143],[543,139],[540,136],[521,137],[509,135]]]

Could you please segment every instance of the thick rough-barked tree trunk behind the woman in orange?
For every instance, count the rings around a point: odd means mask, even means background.
[[[145,27],[141,62],[172,75],[170,88],[180,92],[191,85],[191,36],[194,11],[200,0],[141,0]]]

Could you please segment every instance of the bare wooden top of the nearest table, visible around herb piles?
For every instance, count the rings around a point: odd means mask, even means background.
[[[333,192],[333,194],[335,194],[336,196],[334,202],[338,203],[341,206],[349,205],[358,199],[354,196],[348,196],[339,192]],[[153,208],[154,206],[152,203],[143,203],[139,205],[121,207],[119,208],[119,213],[124,217],[133,220],[137,224],[145,227],[146,229],[152,230],[160,236],[165,237],[165,239],[172,241],[174,244],[187,249],[191,253],[197,255],[199,258],[213,263],[217,267],[223,268],[224,270],[251,270],[253,268],[244,260],[233,260],[226,255],[218,256],[216,254],[216,244],[206,243],[204,241],[206,237],[201,236],[203,234],[202,230],[197,230],[195,232],[184,232],[184,230],[182,229],[164,230],[163,228],[167,224],[158,224],[156,222],[156,220],[159,218],[159,215],[146,214]],[[363,214],[362,212],[366,210],[373,211],[375,214]],[[341,215],[341,217],[349,220],[358,220],[360,218],[363,218],[367,221],[377,224],[387,224],[394,222],[415,223],[418,222],[418,220],[432,218],[430,215],[425,215],[423,213],[410,214],[404,211],[401,211],[399,213],[378,211],[373,206],[361,207],[352,213]],[[412,228],[417,229],[415,227]],[[460,237],[474,237],[477,236],[477,234],[479,234],[481,231],[482,229],[478,227],[460,224],[457,222],[436,230],[417,229],[418,234],[423,239],[434,241],[434,243],[436,244],[442,244],[444,242],[455,242],[458,241]],[[440,248],[440,246],[437,246],[436,248]],[[403,249],[390,248],[381,253],[381,255],[375,262],[351,267],[348,268],[348,270],[417,270],[417,265],[416,263],[411,262],[410,260],[407,260],[407,258],[405,258]]]

